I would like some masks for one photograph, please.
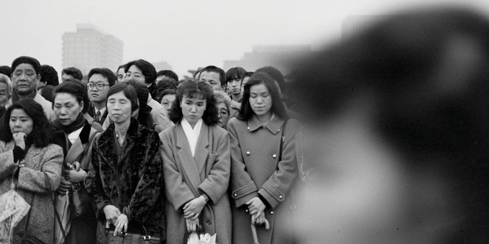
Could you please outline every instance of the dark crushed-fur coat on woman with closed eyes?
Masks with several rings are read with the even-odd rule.
[[[130,209],[128,233],[148,234],[164,240],[158,134],[131,118],[121,154],[117,155],[114,129],[111,123],[95,138],[92,169],[85,180],[87,192],[96,203],[97,219],[105,226],[103,208],[106,205],[116,206],[121,213],[127,206]]]

